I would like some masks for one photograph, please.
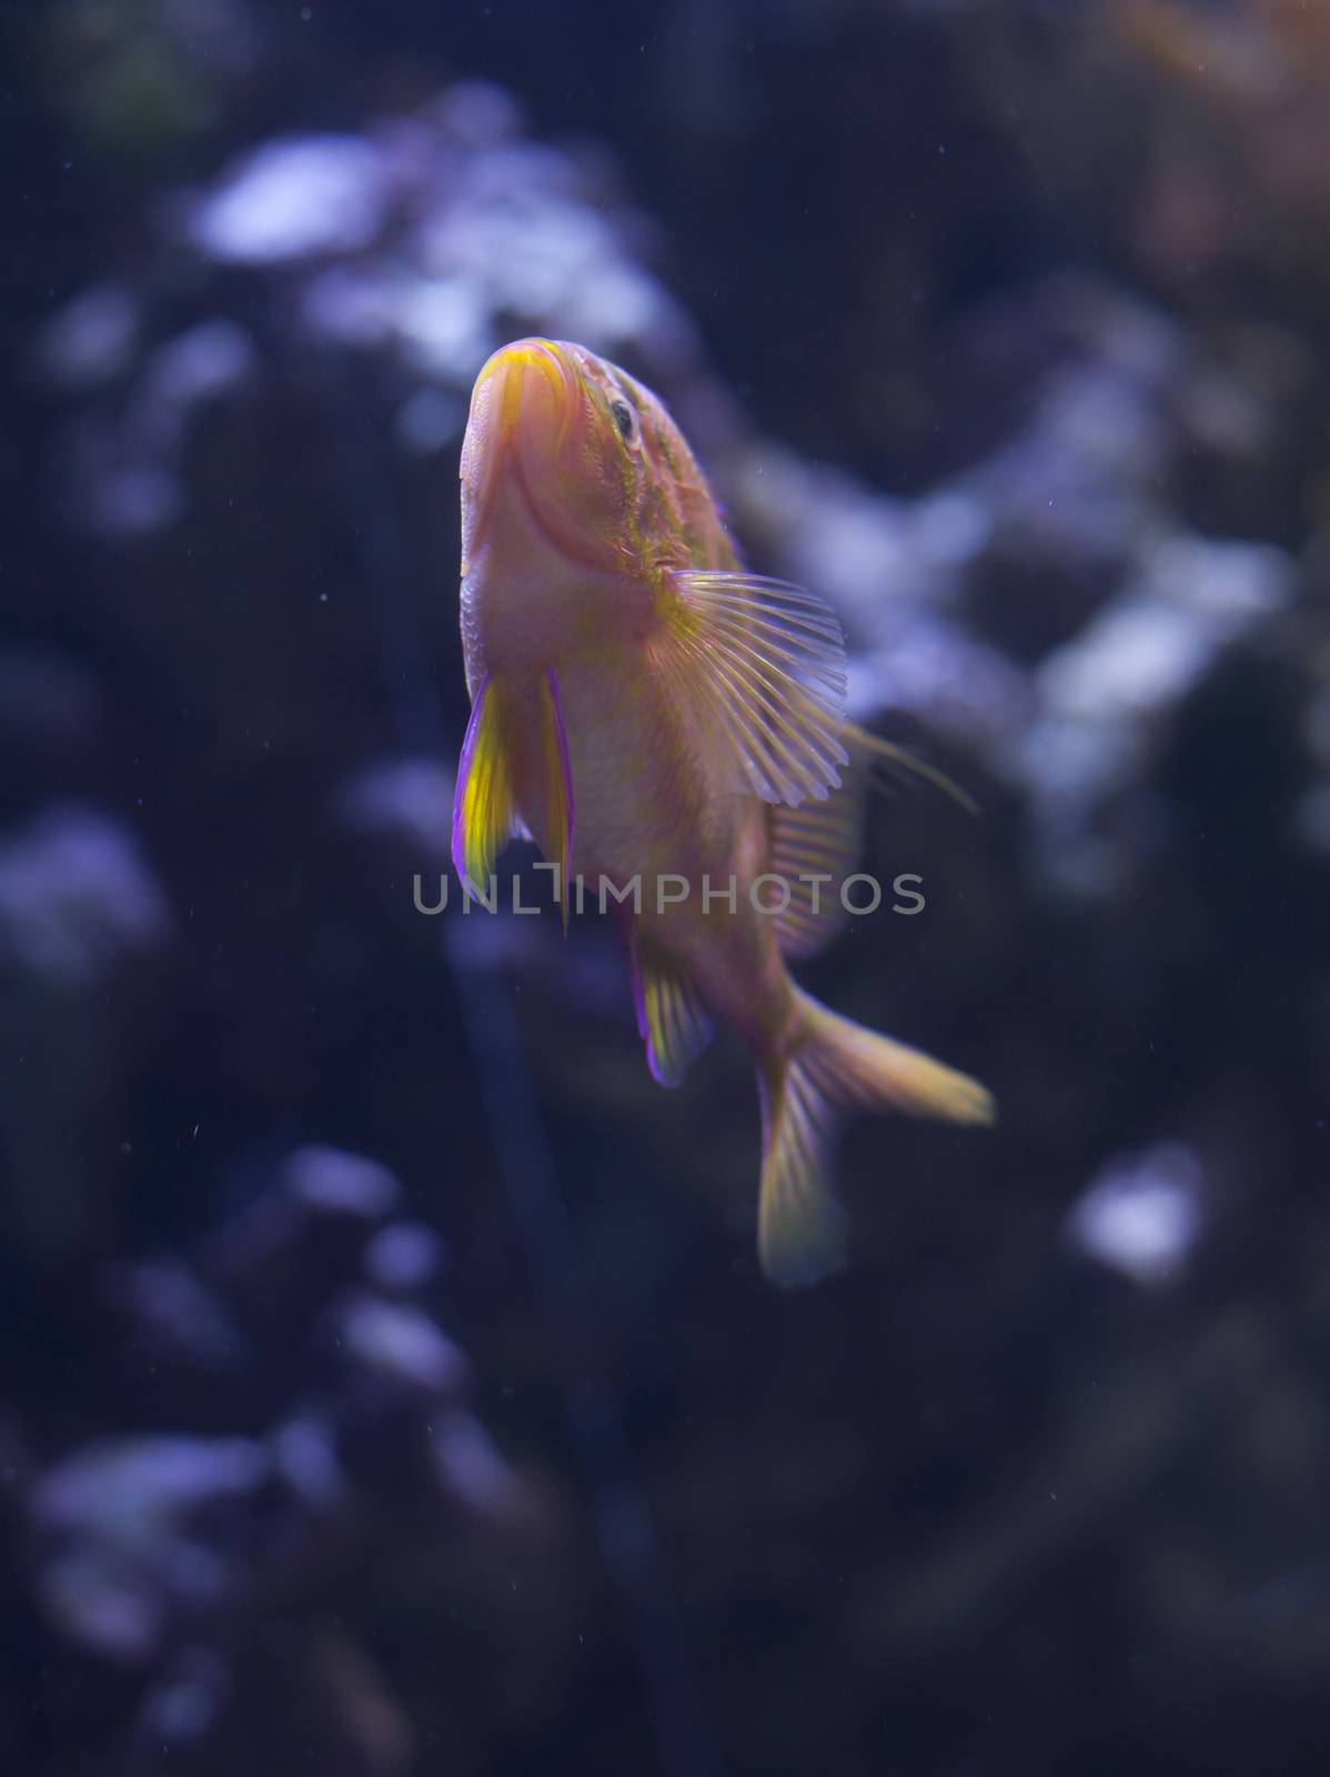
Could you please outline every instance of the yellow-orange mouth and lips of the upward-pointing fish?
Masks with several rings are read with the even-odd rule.
[[[570,538],[550,524],[549,483],[584,403],[577,368],[556,339],[515,339],[481,368],[462,444],[462,572],[487,540],[506,476],[549,542]]]

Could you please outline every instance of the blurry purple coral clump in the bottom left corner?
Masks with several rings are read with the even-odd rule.
[[[277,1772],[311,1720],[327,1772],[416,1768],[348,1619],[382,1644],[414,1608],[396,1569],[456,1605],[469,1542],[549,1532],[469,1409],[469,1367],[423,1304],[435,1249],[400,1205],[382,1167],[302,1150],[188,1256],[99,1279],[105,1349],[83,1361],[115,1430],[41,1468],[0,1448],[23,1551],[4,1610],[36,1661],[0,1679],[11,1770],[133,1770],[151,1747],[220,1773],[243,1747]]]

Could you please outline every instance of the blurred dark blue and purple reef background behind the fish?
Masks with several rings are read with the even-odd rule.
[[[1330,9],[11,4],[0,147],[0,1772],[1330,1768]],[[980,803],[803,1295],[739,1045],[414,904],[529,332]]]

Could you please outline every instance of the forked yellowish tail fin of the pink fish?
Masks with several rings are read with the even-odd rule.
[[[762,1059],[762,1269],[787,1288],[817,1283],[845,1258],[845,1212],[827,1178],[838,1111],[863,1105],[991,1123],[991,1095],[966,1073],[797,995],[799,1034]]]

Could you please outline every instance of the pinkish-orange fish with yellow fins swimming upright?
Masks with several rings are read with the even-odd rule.
[[[819,1004],[788,963],[831,936],[867,787],[909,761],[845,716],[815,590],[753,574],[664,402],[582,345],[499,348],[460,458],[471,720],[453,864],[534,839],[565,920],[593,883],[623,928],[652,1075],[717,1020],[756,1066],[758,1258],[796,1288],[845,1263],[833,1143],[854,1109],[991,1123],[977,1080]]]

